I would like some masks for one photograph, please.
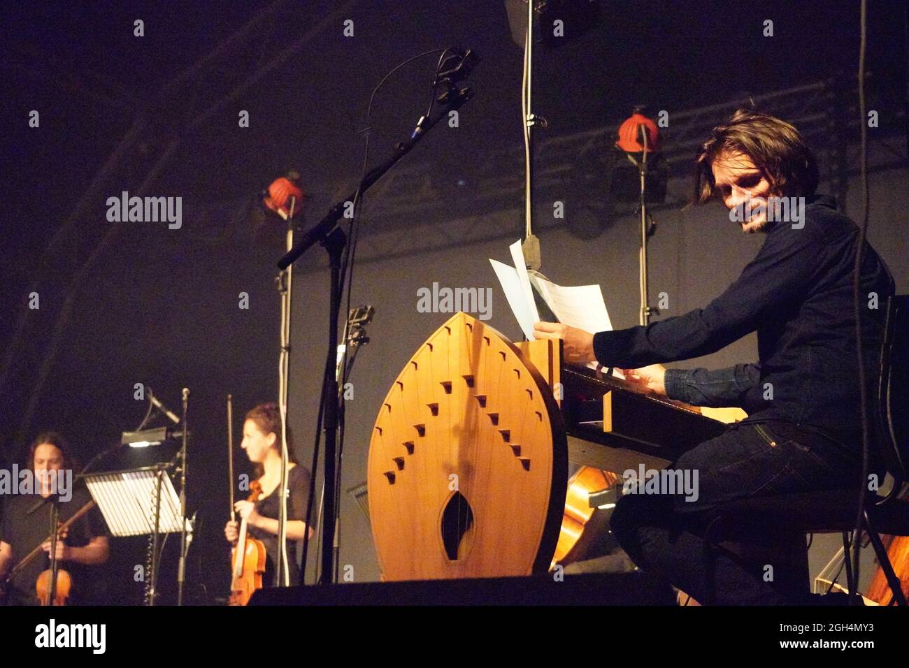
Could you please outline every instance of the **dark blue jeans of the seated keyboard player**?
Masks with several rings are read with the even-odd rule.
[[[704,511],[758,495],[857,490],[861,464],[834,444],[809,449],[764,424],[737,424],[683,454],[671,469],[697,471],[696,500],[686,501],[682,493],[625,494],[614,509],[612,531],[632,561],[699,603],[783,605],[804,603],[808,592],[793,591],[793,583],[807,573],[780,573],[783,563],[774,567],[773,557],[752,554],[749,561],[707,543]],[[766,545],[768,554],[779,554],[785,542],[784,551],[801,551],[804,558],[804,533],[782,536],[769,532],[748,542]]]

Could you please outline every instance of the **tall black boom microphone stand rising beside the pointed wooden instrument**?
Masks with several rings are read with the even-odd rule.
[[[385,162],[376,165],[366,173],[360,187],[345,200],[335,204],[325,217],[315,225],[311,230],[306,232],[300,241],[294,245],[280,260],[278,268],[286,269],[295,262],[302,254],[309,250],[316,243],[325,247],[328,254],[328,265],[331,274],[330,279],[330,301],[329,301],[329,324],[328,324],[328,354],[325,358],[325,373],[323,374],[322,392],[325,403],[325,416],[323,430],[325,433],[325,511],[322,515],[322,569],[319,576],[319,583],[330,584],[335,580],[334,577],[334,558],[333,546],[335,544],[335,457],[337,446],[338,430],[338,378],[336,369],[336,354],[338,344],[338,314],[341,310],[341,256],[347,244],[347,235],[344,230],[338,226],[338,222],[344,215],[346,203],[353,202],[359,193],[364,194],[376,181],[394,167],[401,158],[411,152],[423,137],[439,122],[447,116],[449,112],[459,109],[466,103],[473,93],[469,88],[459,89],[454,85],[449,88],[443,95],[438,98],[440,111],[428,118],[423,125],[423,132],[414,133],[404,142],[395,146],[394,153],[388,157]],[[315,471],[313,472],[315,474]],[[307,536],[308,537],[308,536]]]

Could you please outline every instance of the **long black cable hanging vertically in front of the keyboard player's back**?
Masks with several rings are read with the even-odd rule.
[[[855,267],[853,275],[853,310],[855,315],[855,361],[858,364],[858,384],[859,384],[859,404],[862,411],[862,477],[859,480],[859,499],[858,512],[855,516],[854,544],[852,550],[852,568],[851,573],[854,582],[850,582],[849,603],[857,604],[858,598],[858,580],[859,580],[859,554],[861,552],[862,542],[858,537],[862,534],[862,524],[864,523],[864,502],[865,489],[868,480],[868,459],[871,450],[869,438],[869,425],[867,414],[867,388],[864,380],[864,354],[862,351],[862,311],[859,305],[859,290],[861,289],[862,274],[862,255],[864,251],[864,240],[868,233],[868,119],[866,117],[865,99],[864,99],[864,56],[867,40],[867,3],[861,0],[861,21],[860,21],[860,38],[859,38],[859,55],[858,55],[858,105],[860,124],[862,128],[862,151],[861,151],[861,169],[862,169],[862,225],[859,228],[858,242],[855,248]],[[849,570],[847,570],[847,574]],[[848,575],[847,575],[848,576]]]

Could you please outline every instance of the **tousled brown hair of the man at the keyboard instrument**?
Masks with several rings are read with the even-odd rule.
[[[694,204],[705,204],[719,195],[714,183],[714,160],[735,152],[751,158],[774,194],[806,197],[817,189],[817,161],[801,133],[774,116],[739,109],[728,122],[714,127],[697,152]]]

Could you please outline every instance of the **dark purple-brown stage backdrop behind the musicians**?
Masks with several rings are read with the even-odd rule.
[[[652,114],[668,111],[667,150],[674,138],[687,161],[702,136],[674,129],[675,114],[701,110],[686,116],[700,132],[749,96],[761,109],[762,96],[794,89],[782,96],[792,109],[787,120],[813,129],[826,165],[821,190],[846,195],[847,213],[858,218],[857,133],[825,125],[835,116],[828,107],[843,100],[840,118],[857,123],[850,90],[858,3],[602,5],[603,22],[590,33],[534,54],[534,111],[549,120],[541,141],[588,132],[602,135],[605,150],[612,142],[606,129],[644,102]],[[881,117],[870,131],[870,239],[904,292],[904,6],[869,9],[869,108]],[[462,45],[480,55],[469,80],[476,96],[458,127],[440,124],[400,165],[413,178],[389,179],[365,199],[353,300],[373,304],[376,317],[347,407],[346,490],[365,480],[369,434],[388,386],[448,317],[418,313],[417,289],[433,282],[492,287],[491,323],[519,335],[486,258],[506,260],[507,245],[523,230],[522,49],[512,42],[503,2],[72,2],[6,5],[0,12],[0,459],[21,461],[38,431],[56,429],[85,460],[141,421],[145,403],[133,398],[135,383],[151,385],[175,411],[180,388],[190,387],[189,497],[200,524],[188,578],[191,599],[210,602],[228,585],[225,394],[234,394],[239,434],[240,416],[277,392],[273,281],[283,238],[258,211],[255,194],[296,168],[310,194],[306,224],[314,224],[355,189],[360,131],[379,79],[427,49]],[[136,19],[145,36],[134,35]],[[343,35],[347,19],[354,21],[351,37]],[[774,22],[773,37],[762,35],[765,19]],[[273,58],[283,59],[270,67]],[[434,57],[416,61],[377,95],[371,164],[409,135],[434,68]],[[818,82],[822,88],[810,88]],[[843,96],[825,97],[837,86]],[[809,97],[822,112],[800,107]],[[40,113],[38,128],[28,125],[32,110]],[[249,127],[238,126],[242,111]],[[552,144],[538,150],[537,169],[546,175],[537,201],[544,272],[561,284],[602,284],[614,326],[636,324],[634,215],[608,214],[603,165],[572,157]],[[566,164],[583,167],[586,180],[560,176]],[[660,228],[651,245],[652,299],[669,295],[664,315],[706,304],[760,244],[718,207],[683,211],[691,180],[687,166],[680,169],[670,182],[670,204],[655,212]],[[182,227],[107,222],[106,198],[122,191],[183,197]],[[557,200],[565,202],[565,221],[553,220]],[[306,463],[327,327],[320,253],[305,255],[295,268],[289,423]],[[27,307],[33,291],[37,310]],[[240,293],[249,295],[247,310],[238,307]],[[699,362],[716,367],[755,356],[748,337]],[[237,462],[248,472],[242,453]],[[353,566],[358,582],[376,580],[369,526],[348,494],[341,515],[342,567]],[[814,572],[837,540],[814,541]],[[165,590],[172,589],[175,543],[167,545]],[[145,543],[114,546],[109,601],[138,603],[142,586],[133,573],[144,562]]]

